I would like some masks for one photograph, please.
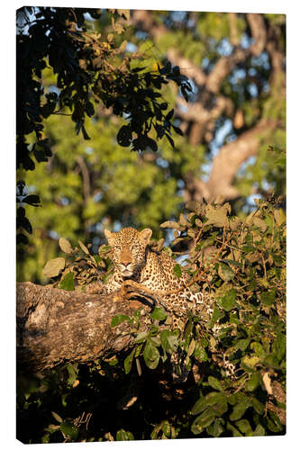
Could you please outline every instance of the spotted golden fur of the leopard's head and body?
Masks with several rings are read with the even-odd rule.
[[[189,276],[174,274],[176,261],[167,253],[155,252],[148,246],[152,231],[141,232],[124,228],[113,233],[105,229],[105,237],[112,247],[114,256],[114,274],[105,284],[107,293],[120,289],[124,280],[131,279],[153,292],[165,293],[183,288],[179,293],[161,295],[162,302],[177,317],[186,317],[186,310],[196,311],[204,303],[203,294],[192,293],[186,287]]]

